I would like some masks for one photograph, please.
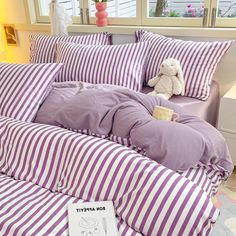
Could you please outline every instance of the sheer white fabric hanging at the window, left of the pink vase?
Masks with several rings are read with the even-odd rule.
[[[51,34],[56,36],[68,35],[67,26],[71,24],[71,17],[60,6],[58,0],[49,4],[49,17],[51,21]]]

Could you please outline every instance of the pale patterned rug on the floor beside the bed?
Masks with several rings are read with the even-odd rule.
[[[236,236],[236,175],[221,185],[213,198],[214,205],[220,209],[220,216],[211,236]]]

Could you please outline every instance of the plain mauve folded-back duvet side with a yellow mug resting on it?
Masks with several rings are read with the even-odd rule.
[[[154,119],[156,105],[179,113],[178,122]],[[233,169],[224,138],[213,126],[169,101],[117,86],[54,84],[35,122],[129,139],[172,170],[185,170],[199,161],[228,173]]]

